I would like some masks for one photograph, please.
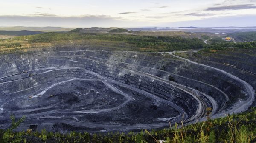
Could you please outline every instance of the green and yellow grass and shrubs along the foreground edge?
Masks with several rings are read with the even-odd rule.
[[[210,109],[208,109],[209,113]],[[225,118],[210,119],[188,126],[170,125],[161,130],[142,130],[139,133],[109,132],[90,134],[87,132],[46,132],[46,130],[12,132],[23,120],[15,122],[11,116],[12,126],[0,131],[1,143],[255,143],[256,109],[248,112],[227,115]]]

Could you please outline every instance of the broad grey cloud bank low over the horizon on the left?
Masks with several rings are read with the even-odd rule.
[[[55,26],[55,27],[125,27],[143,25],[144,22],[128,21],[106,15],[81,15],[76,17],[38,16],[27,14],[0,16],[1,25],[8,26]],[[144,23],[145,24],[145,23]],[[149,25],[146,25],[149,26]]]

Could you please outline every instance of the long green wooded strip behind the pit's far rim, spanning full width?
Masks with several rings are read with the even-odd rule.
[[[204,38],[208,36],[202,35]],[[202,37],[202,38],[203,38]],[[25,38],[25,41],[24,41]],[[222,40],[222,39],[221,39]],[[210,44],[204,44],[201,39],[192,38],[186,39],[181,37],[171,36],[141,36],[133,34],[96,34],[96,33],[79,33],[79,32],[67,32],[67,33],[44,33],[29,36],[18,36],[13,40],[7,40],[5,43],[0,43],[2,47],[1,51],[14,50],[19,47],[7,48],[4,44],[12,44],[13,42],[21,43],[21,47],[28,48],[26,42],[29,42],[29,47],[44,46],[46,45],[74,45],[74,44],[93,44],[93,45],[111,45],[112,50],[126,50],[126,51],[172,51],[172,50],[184,50],[184,49],[196,49],[196,48],[255,48],[255,42],[223,42],[223,40],[212,39]],[[25,44],[22,44],[24,43]],[[210,41],[208,41],[209,43]],[[38,44],[36,44],[38,43]],[[31,45],[32,44],[32,45]],[[6,49],[5,49],[6,48]]]

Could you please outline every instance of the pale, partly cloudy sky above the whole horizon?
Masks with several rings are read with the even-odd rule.
[[[3,0],[0,26],[256,26],[256,0]]]

